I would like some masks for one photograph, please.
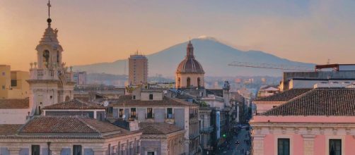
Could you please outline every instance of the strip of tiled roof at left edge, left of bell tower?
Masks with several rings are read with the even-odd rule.
[[[0,99],[0,109],[28,109],[28,99]]]

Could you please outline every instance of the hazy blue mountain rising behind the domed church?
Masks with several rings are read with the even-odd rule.
[[[248,63],[272,63],[284,66],[303,66],[312,69],[315,64],[290,61],[279,58],[263,51],[240,51],[232,46],[223,44],[211,37],[199,37],[191,40],[194,46],[194,55],[202,64],[206,75],[210,76],[235,76],[235,75],[270,75],[281,76],[282,70],[265,68],[245,68],[228,66],[233,61]],[[161,74],[168,77],[175,75],[178,64],[186,55],[187,42],[170,46],[154,54],[147,55],[149,64],[149,76]],[[127,59],[112,63],[94,63],[85,66],[74,66],[74,70],[85,70],[88,73],[110,73],[115,75],[128,73]],[[126,63],[126,64],[125,64]]]

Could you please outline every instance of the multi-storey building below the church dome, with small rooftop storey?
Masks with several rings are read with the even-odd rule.
[[[132,95],[122,95],[110,101],[114,118],[140,123],[169,123],[185,130],[185,154],[198,154],[199,106],[166,97],[162,89],[134,90]]]

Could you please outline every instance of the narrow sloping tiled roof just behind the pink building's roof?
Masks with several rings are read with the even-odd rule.
[[[302,89],[288,89],[284,92],[280,92],[278,94],[273,94],[269,97],[261,97],[255,99],[254,101],[289,101],[294,99],[295,97],[300,96],[306,92],[309,92],[311,89],[302,88]]]

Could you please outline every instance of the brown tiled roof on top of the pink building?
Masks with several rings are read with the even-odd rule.
[[[263,116],[355,116],[355,89],[313,89]]]

